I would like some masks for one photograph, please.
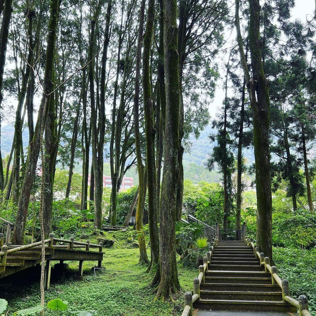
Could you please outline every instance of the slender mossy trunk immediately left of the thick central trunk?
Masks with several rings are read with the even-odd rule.
[[[156,195],[156,163],[155,163],[155,121],[154,106],[151,97],[152,87],[150,82],[150,48],[154,32],[155,0],[149,0],[147,23],[144,35],[143,48],[143,99],[145,113],[146,136],[146,166],[148,183],[148,222],[151,250],[151,269],[158,272],[159,278],[159,232],[157,222],[157,195]],[[140,147],[140,146],[139,146]]]

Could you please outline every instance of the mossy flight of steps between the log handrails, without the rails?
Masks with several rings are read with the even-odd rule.
[[[193,307],[209,310],[292,312],[282,300],[282,289],[272,284],[252,248],[243,241],[219,241],[214,248],[200,299]]]

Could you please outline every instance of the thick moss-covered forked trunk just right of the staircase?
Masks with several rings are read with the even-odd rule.
[[[250,77],[239,23],[239,0],[235,1],[235,25],[240,51],[240,62],[246,77],[253,116],[253,145],[257,191],[257,246],[272,261],[272,196],[269,148],[270,96],[262,65],[260,41],[259,0],[249,0],[249,49],[252,78]]]

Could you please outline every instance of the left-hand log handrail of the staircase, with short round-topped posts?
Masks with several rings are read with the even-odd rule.
[[[192,316],[193,315],[193,303],[200,298],[200,285],[205,281],[205,271],[208,270],[208,266],[213,256],[213,249],[218,243],[218,237],[212,238],[209,251],[206,257],[203,258],[203,265],[198,267],[198,277],[193,280],[193,295],[191,292],[185,292],[184,294],[184,309],[181,316]],[[304,315],[305,316],[305,315]]]

